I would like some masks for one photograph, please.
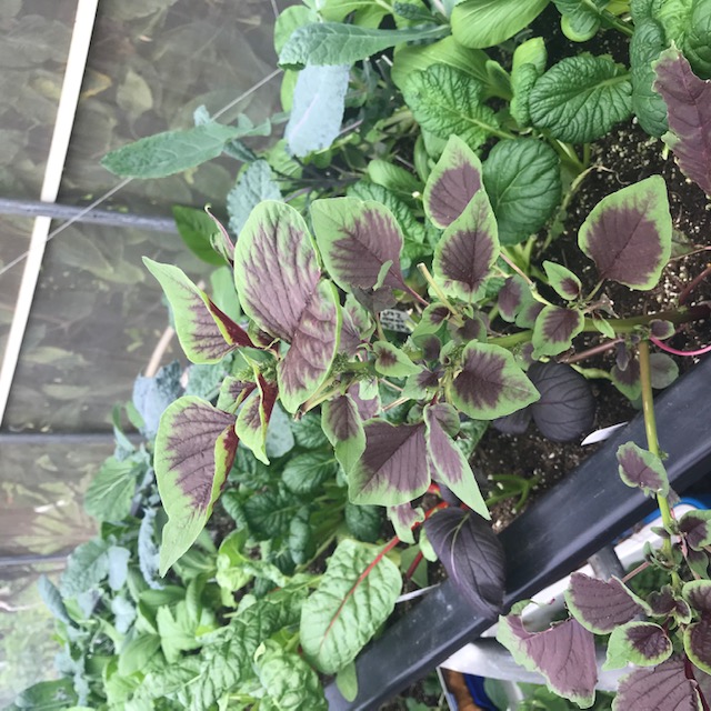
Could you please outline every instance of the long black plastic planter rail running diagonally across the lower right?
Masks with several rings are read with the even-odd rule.
[[[711,358],[658,397],[654,405],[669,479],[683,491],[711,471]],[[654,509],[653,500],[625,487],[618,475],[615,452],[630,440],[647,445],[641,415],[501,533],[507,609],[568,575]],[[329,709],[378,709],[493,622],[473,612],[444,582],[360,654],[354,701],[347,701],[333,683],[327,688]]]

